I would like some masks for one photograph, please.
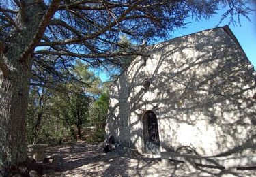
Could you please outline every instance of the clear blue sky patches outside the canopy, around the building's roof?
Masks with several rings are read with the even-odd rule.
[[[256,5],[251,5],[252,9],[256,10]],[[177,29],[174,33],[171,33],[171,38],[180,37],[183,35],[188,35],[190,33],[196,33],[198,31],[203,31],[205,29],[212,29],[218,25],[219,20],[221,19],[221,15],[224,13],[224,11],[218,12],[214,17],[208,19],[208,20],[202,20],[197,21],[195,20],[188,20],[188,24],[186,25],[186,28],[184,29]],[[233,31],[234,35],[238,39],[238,42],[244,49],[244,52],[246,53],[246,56],[251,61],[253,66],[256,68],[256,12],[253,12],[249,18],[251,19],[251,22],[248,21],[246,18],[241,18],[241,26],[237,25],[229,25],[231,31]],[[228,25],[229,19],[225,19],[221,25]],[[159,41],[160,42],[160,41]],[[98,72],[100,78],[105,81],[108,80],[108,76],[104,71]]]

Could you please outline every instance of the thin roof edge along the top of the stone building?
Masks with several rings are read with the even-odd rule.
[[[190,34],[188,34],[188,35],[182,35],[182,36],[179,36],[179,37],[174,37],[173,39],[169,39],[169,40],[167,40],[167,41],[158,42],[158,43],[156,43],[156,44],[148,45],[148,46],[145,47],[145,49],[150,48],[150,47],[153,47],[153,46],[156,46],[156,45],[158,45],[158,44],[169,43],[169,42],[171,42],[171,41],[173,41],[173,40],[175,40],[175,39],[178,39],[178,38],[180,38],[180,37],[186,37],[186,36],[189,36],[189,35],[194,35],[194,34],[196,34],[196,33],[201,33],[201,32],[204,32],[204,31],[210,31],[210,30],[213,30],[213,29],[223,29],[223,30],[227,33],[227,35],[229,35],[229,37],[231,37],[231,39],[232,39],[232,40],[239,46],[239,48],[242,50],[242,53],[244,54],[246,60],[251,63],[251,61],[249,61],[248,57],[246,56],[246,54],[245,54],[245,52],[244,52],[242,46],[241,46],[240,43],[238,42],[238,39],[236,39],[236,36],[233,34],[233,32],[231,31],[231,29],[229,28],[229,25],[224,25],[224,26],[222,26],[222,27],[214,27],[214,28],[210,28],[210,29],[204,29],[204,30],[202,30],[202,31],[197,31],[197,32],[195,32],[195,33],[190,33]],[[138,57],[138,56],[137,56],[137,57]],[[137,59],[137,57],[135,57],[134,59],[132,59],[132,61],[134,61],[135,59]],[[132,63],[132,61],[131,61],[130,63]],[[113,83],[109,86],[109,88],[111,88],[111,87],[113,86],[113,84],[114,84],[115,82],[117,82],[117,80],[120,78],[120,76],[122,76],[122,74],[124,74],[124,72],[126,71],[126,69],[128,69],[129,66],[130,66],[130,64],[119,74],[119,76],[118,76],[115,80],[113,80]]]

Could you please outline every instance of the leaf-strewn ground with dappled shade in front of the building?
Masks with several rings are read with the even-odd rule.
[[[100,144],[85,142],[49,147],[47,154],[59,156],[56,164],[45,165],[48,176],[256,176],[256,170],[195,169],[186,163],[163,165],[160,158],[131,150],[105,154]]]

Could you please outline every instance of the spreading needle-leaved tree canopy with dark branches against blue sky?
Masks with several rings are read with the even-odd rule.
[[[240,23],[240,16],[248,18],[251,9],[246,1],[77,1],[77,0],[1,0],[1,52],[6,52],[14,35],[29,33],[28,23],[40,18],[36,31],[20,52],[20,60],[29,54],[35,65],[49,70],[48,64],[67,67],[79,59],[93,67],[119,65],[114,57],[143,55],[139,50],[120,43],[125,35],[132,44],[169,37],[175,29],[184,27],[187,18],[209,18],[218,10],[227,9],[222,19]],[[41,9],[36,12],[35,9]],[[37,48],[40,47],[40,48]],[[124,50],[126,49],[126,50]],[[128,51],[128,52],[127,52]],[[44,60],[45,56],[51,60]],[[8,66],[1,59],[0,68],[8,74]],[[53,69],[53,68],[51,68]]]

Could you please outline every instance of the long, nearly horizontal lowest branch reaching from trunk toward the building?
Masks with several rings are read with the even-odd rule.
[[[145,56],[143,52],[115,52],[115,53],[99,53],[99,54],[78,54],[74,52],[55,52],[48,50],[39,50],[35,54],[51,54],[51,55],[66,55],[70,57],[81,57],[81,58],[106,58],[106,57],[118,57],[118,56],[131,56],[131,55],[141,55]]]

